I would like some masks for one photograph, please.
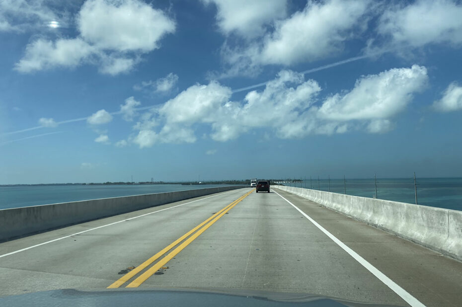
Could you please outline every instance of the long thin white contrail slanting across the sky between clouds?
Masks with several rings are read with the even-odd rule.
[[[389,50],[388,50],[388,51],[389,51]],[[357,57],[349,58],[349,59],[346,59],[346,60],[342,60],[342,61],[334,62],[334,63],[331,63],[331,64],[327,64],[327,65],[319,66],[319,67],[316,67],[316,68],[312,68],[312,69],[309,69],[309,70],[306,70],[306,71],[301,72],[301,74],[306,75],[306,74],[310,74],[310,73],[322,71],[322,70],[325,70],[325,69],[328,69],[328,68],[336,67],[336,66],[339,66],[339,65],[347,64],[347,63],[350,63],[350,62],[355,62],[355,61],[359,61],[359,60],[366,59],[366,58],[372,58],[372,57],[381,55],[381,54],[383,54],[383,53],[385,53],[385,52],[388,52],[388,51],[381,51],[381,52],[377,52],[377,53],[371,53],[371,54],[368,54],[368,55],[362,55],[362,56],[357,56]],[[257,88],[257,87],[260,87],[260,86],[264,86],[264,85],[266,85],[268,82],[269,82],[269,81],[261,82],[261,83],[257,83],[257,84],[253,84],[253,85],[249,85],[249,86],[245,86],[245,87],[241,87],[241,88],[236,88],[236,89],[233,89],[233,90],[232,90],[232,93],[237,93],[237,92],[245,91],[245,90],[248,90],[248,89],[252,89],[252,88]],[[137,110],[137,111],[142,111],[142,110],[152,109],[152,108],[154,108],[154,107],[156,107],[156,106],[158,106],[158,105],[151,105],[151,106],[136,108],[136,110]],[[122,114],[122,111],[112,112],[112,113],[109,113],[109,114],[111,114],[111,115]],[[88,119],[88,117],[81,117],[81,118],[76,118],[76,119],[68,119],[68,120],[65,120],[65,121],[57,122],[57,124],[58,124],[58,125],[61,125],[61,124],[68,124],[68,123],[74,123],[74,122],[85,121],[85,120],[87,120],[87,119]],[[11,134],[16,134],[16,133],[21,133],[21,132],[26,132],[26,131],[41,129],[41,128],[47,128],[47,127],[45,127],[45,126],[37,126],[37,127],[32,127],[32,128],[27,128],[27,129],[12,131],[12,132],[6,132],[6,133],[3,133],[3,134],[1,134],[1,135],[2,135],[2,136],[6,136],[6,135],[11,135]],[[47,135],[47,134],[43,134],[43,135]],[[42,135],[39,135],[39,136],[42,136]],[[20,139],[20,140],[23,140],[23,139]],[[9,142],[6,142],[6,143],[10,143],[10,142],[14,142],[14,141],[9,141]],[[2,143],[2,144],[6,144],[6,143]]]

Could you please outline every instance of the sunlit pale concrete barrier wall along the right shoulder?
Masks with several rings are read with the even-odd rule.
[[[462,211],[273,186],[462,261]]]

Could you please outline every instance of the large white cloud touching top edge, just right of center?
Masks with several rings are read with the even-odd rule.
[[[276,23],[273,34],[264,39],[263,64],[291,65],[312,62],[338,53],[351,38],[354,27],[364,21],[366,0],[309,1],[305,9]]]

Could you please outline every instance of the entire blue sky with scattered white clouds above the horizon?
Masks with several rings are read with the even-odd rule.
[[[462,177],[455,0],[4,0],[0,184]]]

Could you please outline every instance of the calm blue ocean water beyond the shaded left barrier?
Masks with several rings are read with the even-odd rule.
[[[0,209],[79,200],[214,188],[225,185],[54,185],[0,187]]]

